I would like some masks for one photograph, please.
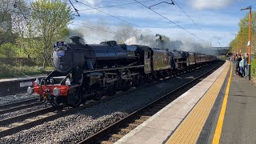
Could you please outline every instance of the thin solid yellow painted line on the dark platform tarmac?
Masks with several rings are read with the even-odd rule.
[[[221,138],[221,135],[222,135],[222,126],[223,126],[224,116],[225,116],[225,112],[226,112],[226,102],[227,102],[227,98],[229,97],[230,82],[231,82],[231,78],[232,78],[232,67],[233,66],[231,63],[230,78],[229,78],[229,82],[227,83],[227,86],[226,86],[226,92],[225,92],[225,96],[224,96],[223,103],[222,103],[222,110],[218,117],[218,123],[217,123],[216,130],[214,133],[213,144],[218,144],[219,140]]]

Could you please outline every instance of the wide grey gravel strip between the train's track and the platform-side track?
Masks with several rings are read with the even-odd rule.
[[[204,66],[199,70],[181,74],[179,77],[167,79],[153,86],[129,90],[108,102],[1,138],[0,143],[77,143],[214,66]]]

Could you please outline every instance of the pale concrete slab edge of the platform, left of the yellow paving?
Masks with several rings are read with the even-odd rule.
[[[197,105],[198,101],[201,101],[200,99],[206,94],[223,71],[229,69],[229,66],[230,62],[223,64],[213,74],[210,74],[202,82],[199,82],[198,85],[192,87],[115,143],[167,142],[170,136],[174,134],[174,130],[178,129],[187,115],[190,114],[190,111]]]

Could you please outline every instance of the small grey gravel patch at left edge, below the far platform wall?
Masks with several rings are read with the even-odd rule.
[[[27,95],[26,93],[6,95],[4,97],[0,97],[0,106],[6,105],[13,102],[20,102],[24,100],[37,98],[35,94]]]

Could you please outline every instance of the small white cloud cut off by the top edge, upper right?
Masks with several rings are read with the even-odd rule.
[[[238,0],[189,0],[190,4],[198,10],[206,9],[220,9],[226,6],[230,6],[232,3]]]

